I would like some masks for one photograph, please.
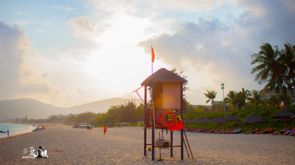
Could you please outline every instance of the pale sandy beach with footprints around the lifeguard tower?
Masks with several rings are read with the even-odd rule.
[[[159,130],[156,130],[158,138]],[[87,129],[70,126],[52,126],[24,135],[0,139],[0,164],[30,165],[295,165],[295,137],[283,135],[220,135],[186,133],[194,160],[187,157],[180,160],[180,147],[175,147],[174,157],[170,150],[156,149],[155,161],[151,152],[144,156],[143,129],[137,127]],[[139,137],[140,136],[140,137]],[[148,143],[151,141],[148,130]],[[164,139],[170,138],[164,131]],[[174,131],[174,145],[180,144],[180,132]],[[24,149],[42,145],[49,159],[23,158],[29,156]],[[35,150],[36,152],[36,150]]]

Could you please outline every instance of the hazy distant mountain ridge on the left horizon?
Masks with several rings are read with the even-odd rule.
[[[56,107],[31,98],[20,98],[14,100],[0,101],[0,120],[4,118],[48,118],[52,115],[62,114],[80,114],[91,111],[94,113],[105,113],[110,106],[124,103],[127,99],[110,98],[100,101],[94,101],[87,104],[77,105],[70,108]],[[137,105],[142,101],[135,99]]]

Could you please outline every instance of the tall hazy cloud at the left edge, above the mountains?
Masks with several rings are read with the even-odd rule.
[[[18,25],[0,22],[0,99],[57,93],[30,67],[32,42]],[[44,96],[45,95],[45,96]]]

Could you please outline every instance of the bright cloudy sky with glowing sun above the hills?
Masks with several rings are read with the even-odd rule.
[[[207,90],[223,99],[222,83],[225,95],[262,90],[251,55],[287,42],[294,0],[1,0],[0,100],[139,98],[153,65],[183,71],[188,102],[206,105]]]

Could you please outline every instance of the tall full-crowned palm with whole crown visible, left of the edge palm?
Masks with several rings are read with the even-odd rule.
[[[286,67],[282,65],[281,59],[278,58],[279,51],[277,50],[277,46],[274,50],[269,43],[266,43],[260,48],[261,51],[259,51],[259,54],[255,53],[252,55],[254,60],[252,60],[251,65],[258,64],[258,66],[254,67],[251,73],[258,72],[255,77],[255,81],[258,81],[258,84],[262,84],[267,81],[278,84],[282,90],[284,105],[288,108],[285,90],[282,85],[282,76],[286,75],[287,70]]]

